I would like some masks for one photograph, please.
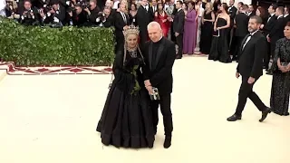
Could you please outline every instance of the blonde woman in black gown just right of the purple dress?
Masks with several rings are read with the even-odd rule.
[[[200,53],[208,54],[211,46],[213,23],[215,22],[215,13],[212,11],[211,3],[207,3],[205,12],[202,16]]]

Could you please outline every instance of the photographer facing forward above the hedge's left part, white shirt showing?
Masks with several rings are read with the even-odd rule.
[[[38,25],[39,14],[35,8],[32,8],[30,0],[24,1],[24,12],[21,13],[20,23],[24,25]]]

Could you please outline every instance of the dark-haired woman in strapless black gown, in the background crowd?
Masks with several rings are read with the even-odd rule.
[[[221,13],[218,14],[214,24],[214,37],[212,39],[208,60],[219,62],[232,62],[228,53],[227,35],[229,34],[230,17],[227,14],[227,4],[220,6]]]

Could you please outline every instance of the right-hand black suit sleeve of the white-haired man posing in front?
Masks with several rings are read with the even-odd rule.
[[[158,85],[170,75],[175,58],[175,45],[174,43],[170,43],[164,67],[160,69],[160,72],[155,73],[154,76],[150,78],[150,83],[153,87]]]

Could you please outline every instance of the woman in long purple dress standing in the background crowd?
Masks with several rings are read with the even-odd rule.
[[[183,34],[183,53],[194,54],[197,44],[197,12],[194,2],[188,4],[188,14],[185,16]]]

